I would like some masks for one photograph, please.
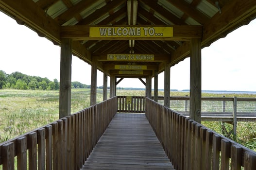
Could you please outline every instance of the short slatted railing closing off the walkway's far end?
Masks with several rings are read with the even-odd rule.
[[[145,113],[145,97],[118,96],[119,113]]]

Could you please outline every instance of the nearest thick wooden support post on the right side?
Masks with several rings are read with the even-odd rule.
[[[201,123],[201,39],[190,40],[189,117]]]

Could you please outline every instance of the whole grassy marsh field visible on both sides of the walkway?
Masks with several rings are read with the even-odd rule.
[[[154,93],[152,93],[154,94]],[[158,92],[163,96],[163,91]],[[144,90],[117,90],[118,96],[145,96]],[[188,92],[172,92],[171,96],[185,96]],[[256,97],[248,94],[208,94],[205,97]],[[97,91],[97,102],[102,101],[102,89]],[[71,113],[90,105],[90,89],[72,89]],[[0,142],[22,135],[51,123],[59,117],[59,92],[43,90],[0,90]],[[206,127],[221,133],[221,122],[202,122]],[[228,130],[231,125],[225,125]],[[237,141],[256,150],[256,122],[239,122]]]

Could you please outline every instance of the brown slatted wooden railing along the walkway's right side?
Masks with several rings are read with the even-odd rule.
[[[149,98],[146,116],[175,170],[256,168],[256,152]]]

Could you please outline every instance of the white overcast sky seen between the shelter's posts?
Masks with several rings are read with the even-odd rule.
[[[31,76],[60,77],[60,47],[0,12],[0,70]],[[256,20],[202,50],[202,90],[256,91]],[[91,66],[72,57],[72,82],[90,85]],[[97,86],[103,85],[98,71]],[[108,78],[109,85],[109,78]],[[118,87],[145,86],[138,79],[124,79]],[[154,79],[152,79],[154,87]],[[158,88],[164,88],[163,73]],[[189,58],[171,67],[171,89],[189,89]]]

